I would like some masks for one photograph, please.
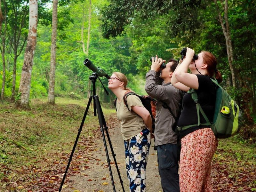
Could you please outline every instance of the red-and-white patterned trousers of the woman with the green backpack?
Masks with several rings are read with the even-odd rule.
[[[211,128],[196,130],[181,139],[180,192],[212,192],[211,162],[217,146]]]

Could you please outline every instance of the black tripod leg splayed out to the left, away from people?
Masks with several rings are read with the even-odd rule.
[[[77,133],[77,136],[76,136],[76,141],[75,141],[74,147],[73,147],[73,149],[72,149],[72,152],[71,152],[71,154],[70,154],[70,157],[69,157],[69,159],[68,159],[68,165],[67,165],[65,174],[64,174],[64,176],[63,176],[63,179],[62,179],[62,181],[61,181],[60,188],[59,188],[59,192],[61,191],[62,185],[63,185],[64,180],[65,180],[65,178],[66,178],[66,175],[67,175],[67,172],[68,172],[68,167],[69,167],[69,164],[70,164],[70,162],[71,162],[71,160],[72,160],[74,151],[75,151],[75,149],[76,149],[76,144],[77,144],[78,138],[79,138],[79,136],[80,136],[80,133],[81,133],[81,131],[82,131],[82,128],[83,128],[83,125],[84,125],[84,121],[85,121],[86,115],[87,115],[87,113],[88,113],[88,110],[89,110],[89,107],[90,107],[91,102],[92,102],[92,96],[90,96],[90,98],[89,98],[87,107],[86,107],[85,112],[84,112],[84,117],[83,117],[83,119],[82,119],[80,128],[78,129],[78,133]]]

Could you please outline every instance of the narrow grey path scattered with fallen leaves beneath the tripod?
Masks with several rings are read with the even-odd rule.
[[[113,122],[111,123],[113,124]],[[108,122],[107,122],[108,125]],[[109,126],[109,125],[108,125]],[[129,181],[127,179],[125,171],[125,160],[124,160],[124,141],[120,133],[120,124],[115,122],[108,129],[110,140],[113,146],[114,153],[116,154],[116,162],[118,163],[118,168],[121,174],[121,178],[124,181],[124,190],[129,191]],[[106,134],[105,134],[106,135]],[[107,137],[106,137],[107,140]],[[71,181],[72,184],[64,187],[61,191],[63,192],[73,192],[79,190],[80,192],[111,192],[114,191],[112,187],[112,182],[110,178],[108,163],[106,161],[106,153],[104,149],[102,136],[95,139],[96,145],[93,150],[88,155],[90,156],[90,161],[86,164],[81,164],[82,170],[76,175],[67,176],[67,179]],[[157,155],[154,151],[153,146],[154,141],[151,143],[149,150],[149,158],[147,164],[147,192],[162,192],[160,177],[158,175],[157,168]],[[111,154],[111,150],[107,141],[107,148],[109,153],[109,158],[111,160],[111,170],[113,173],[113,179],[115,182],[116,191],[123,191],[122,186],[116,171],[116,166],[114,164],[114,158]],[[73,160],[72,160],[73,161]],[[70,182],[69,182],[70,183]]]

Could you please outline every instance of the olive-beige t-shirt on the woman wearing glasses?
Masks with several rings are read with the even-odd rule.
[[[139,97],[136,95],[128,95],[126,101],[130,111],[125,106],[123,99],[120,103],[116,101],[116,116],[121,122],[121,132],[124,140],[131,139],[147,127],[143,119],[131,110],[132,106],[145,108]]]

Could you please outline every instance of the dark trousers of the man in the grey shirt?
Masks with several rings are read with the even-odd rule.
[[[179,164],[177,158],[177,145],[167,143],[156,146],[158,171],[164,192],[179,192]]]

